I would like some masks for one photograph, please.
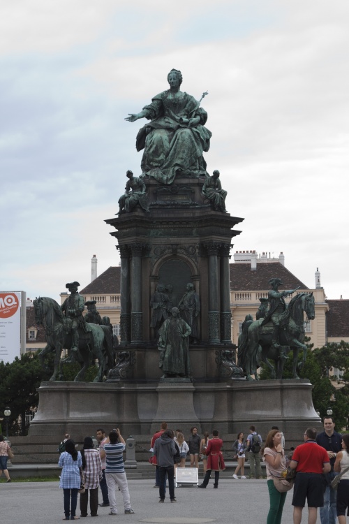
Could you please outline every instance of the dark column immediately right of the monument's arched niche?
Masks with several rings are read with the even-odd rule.
[[[218,288],[218,251],[217,242],[205,245],[209,256],[209,343],[219,344],[220,337],[220,303]]]

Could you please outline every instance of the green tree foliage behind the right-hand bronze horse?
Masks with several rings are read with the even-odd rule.
[[[306,339],[309,342],[309,339]],[[313,384],[313,405],[323,418],[327,409],[332,409],[336,429],[349,429],[349,344],[330,343],[312,350],[313,344],[307,344],[308,354],[304,367],[298,370],[301,379],[309,379]],[[284,379],[292,378],[292,352],[285,362]],[[302,354],[299,354],[299,362]],[[343,377],[337,379],[332,374],[333,368],[343,372]],[[262,365],[260,379],[270,379],[269,369]]]

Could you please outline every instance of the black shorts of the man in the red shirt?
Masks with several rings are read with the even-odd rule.
[[[304,508],[306,500],[308,501],[308,507],[323,507],[324,484],[322,474],[297,472],[295,487],[293,488],[292,506]]]

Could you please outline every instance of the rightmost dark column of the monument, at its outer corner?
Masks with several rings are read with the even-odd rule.
[[[232,314],[230,312],[230,244],[221,247],[221,342],[232,343]]]

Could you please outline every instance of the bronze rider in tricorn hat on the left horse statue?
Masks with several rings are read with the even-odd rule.
[[[71,333],[72,346],[70,349],[70,361],[78,361],[79,355],[79,331],[78,328],[87,333],[87,324],[84,321],[82,312],[84,311],[84,297],[77,293],[77,287],[80,286],[79,282],[68,282],[66,288],[70,291],[70,296],[64,300],[61,305],[61,310],[66,317],[66,331]]]

